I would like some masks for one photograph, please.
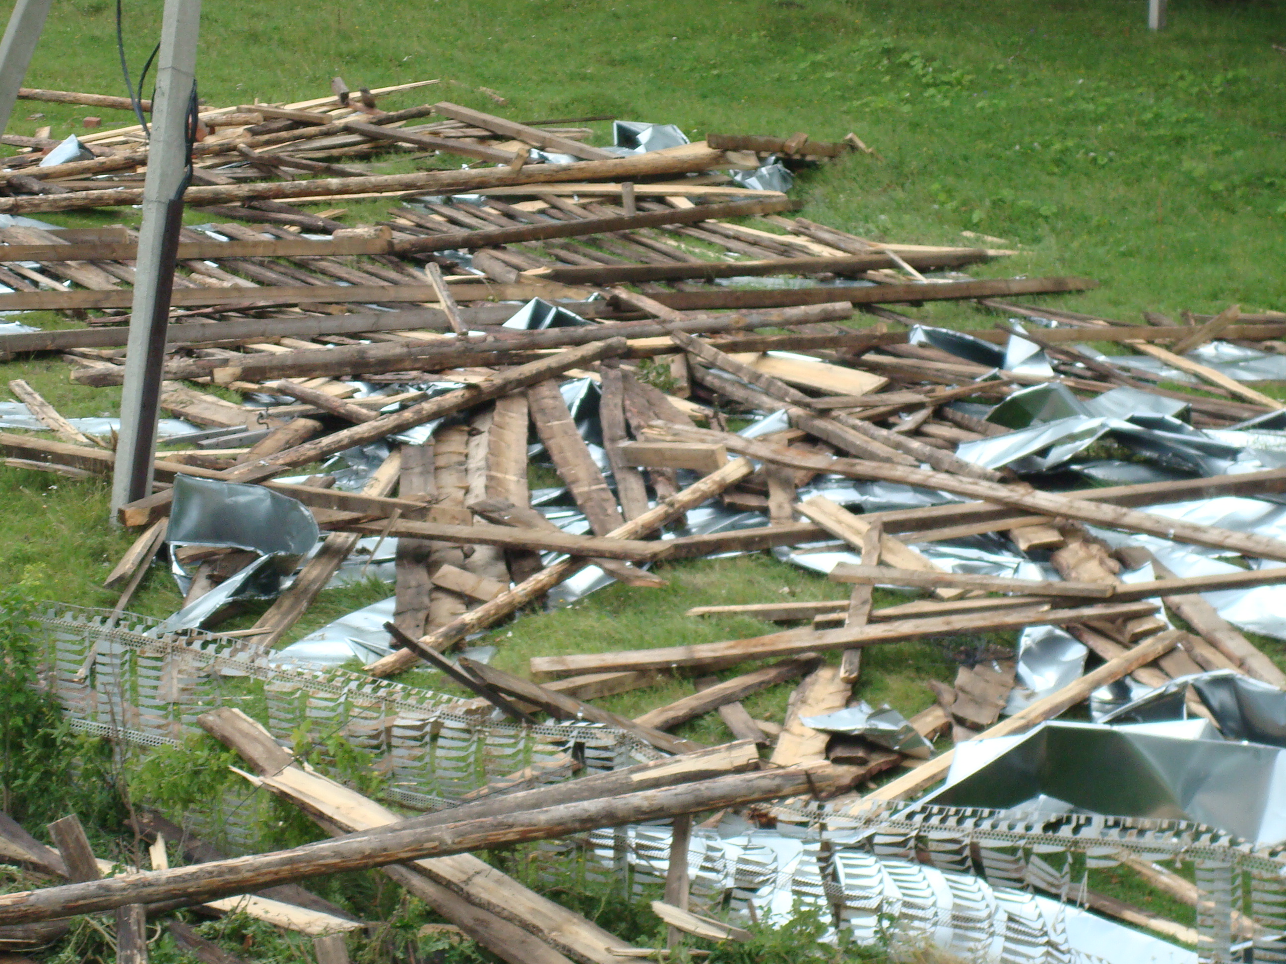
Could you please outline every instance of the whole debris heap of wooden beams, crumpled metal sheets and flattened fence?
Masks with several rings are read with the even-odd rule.
[[[1249,384],[1286,377],[1286,315],[1134,325],[1029,307],[997,298],[1092,283],[967,279],[954,270],[1007,252],[782,217],[795,203],[764,185],[864,149],[855,138],[688,144],[671,126],[617,122],[617,145],[593,148],[588,129],[449,103],[381,113],[379,93],[203,114],[216,132],[189,204],[261,226],[186,229],[180,243],[162,406],[195,447],[161,452],[157,491],[121,509],[141,533],[109,577],[116,613],[45,616],[46,683],[75,721],[153,745],[199,725],[336,839],[224,857],[143,811],[135,829],[162,841],[152,871],[102,878],[75,817],[51,828],[57,851],[0,823],[8,859],[69,882],[0,896],[6,946],[114,909],[138,960],[147,914],[206,902],[319,934],[338,955],[333,934],[361,922],[294,882],[378,866],[513,961],[664,959],[680,932],[738,940],[724,916],[783,920],[797,902],[859,942],[892,924],[1004,960],[1196,956],[1080,905],[1202,959],[1244,946],[1286,958],[1271,778],[1286,675],[1237,629],[1286,639],[1265,595],[1286,582],[1286,415]],[[445,120],[404,126],[426,116]],[[23,174],[0,210],[135,203],[136,189],[104,188],[145,163],[132,136],[86,136],[91,159],[10,159]],[[316,159],[390,145],[495,166],[369,175]],[[397,204],[381,225],[342,229],[336,212],[279,203],[337,197]],[[243,206],[211,207],[225,203]],[[15,222],[0,240],[0,310],[103,312],[77,329],[10,326],[0,351],[60,352],[76,382],[120,384],[132,233]],[[880,307],[937,299],[1006,320],[964,333]],[[60,441],[0,434],[6,464],[112,470],[111,424],[63,419],[12,384],[23,405],[4,424]],[[531,490],[530,460],[562,487]],[[664,585],[652,563],[761,550],[851,585],[849,599],[703,607],[689,614],[805,625],[536,657],[530,679],[481,652],[444,656],[532,603]],[[162,553],[184,604],[127,629]],[[387,572],[395,595],[276,649],[351,559]],[[876,608],[874,586],[925,598]],[[274,602],[249,630],[208,632],[248,599]],[[853,697],[867,647],[1001,631],[1020,631],[1016,652],[993,647],[952,686],[928,681],[937,703],[910,719]],[[327,668],[354,656],[376,677],[427,662],[476,698]],[[764,659],[778,662],[714,675]],[[207,685],[231,674],[310,706],[342,694],[325,712],[387,752],[403,787],[388,802],[431,812],[406,819],[300,765],[282,745],[284,711],[269,701],[256,721]],[[592,702],[664,674],[694,675],[696,692],[637,719]],[[741,703],[795,680],[781,721]],[[1048,722],[1085,701],[1093,722]],[[670,733],[715,711],[738,742]],[[935,754],[948,735],[955,747]],[[509,751],[490,743],[523,740],[541,751],[504,770]],[[430,788],[460,747],[489,758],[482,779]],[[673,826],[646,825],[662,819]],[[165,839],[192,862],[170,869]],[[562,860],[664,883],[653,909],[671,950],[629,946],[469,853],[556,839]],[[1195,861],[1196,883],[1157,859]],[[1105,865],[1195,907],[1196,927],[1091,891],[1085,869]],[[174,928],[201,956],[199,936]]]

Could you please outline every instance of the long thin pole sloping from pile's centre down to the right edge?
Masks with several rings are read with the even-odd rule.
[[[1178,519],[1166,519],[1148,513],[1134,512],[1116,505],[1105,505],[1089,499],[1069,497],[1051,492],[1024,490],[1017,486],[1004,486],[981,479],[962,478],[945,472],[913,469],[903,465],[883,465],[856,459],[828,459],[826,456],[801,456],[779,446],[745,440],[724,432],[678,428],[664,429],[679,441],[723,441],[728,451],[750,455],[765,461],[778,461],[792,468],[815,472],[833,472],[851,478],[867,478],[883,482],[900,482],[919,488],[953,492],[971,499],[1025,509],[1047,517],[1062,517],[1089,522],[1105,528],[1119,528],[1132,532],[1145,532],[1181,542],[1231,549],[1249,557],[1286,560],[1286,542],[1254,533],[1233,532],[1214,526],[1197,526]]]

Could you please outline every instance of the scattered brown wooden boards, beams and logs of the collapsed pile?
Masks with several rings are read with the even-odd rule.
[[[152,871],[100,879],[90,874],[91,861],[73,868],[76,844],[60,843],[55,855],[8,828],[5,841],[26,855],[21,860],[71,883],[0,896],[0,925],[48,927],[41,922],[116,910],[129,933],[136,927],[130,922],[158,906],[266,893],[262,888],[276,895],[305,877],[379,866],[507,960],[615,963],[643,954],[469,851],[674,819],[682,853],[671,861],[664,919],[709,933],[718,923],[683,916],[683,828],[692,814],[742,807],[770,820],[784,812],[773,811],[772,801],[829,797],[833,808],[859,812],[872,802],[908,798],[945,775],[952,742],[1025,731],[1125,676],[1160,685],[1227,668],[1286,685],[1272,661],[1200,595],[1283,582],[1286,568],[1178,578],[1156,567],[1157,578],[1125,585],[1116,575],[1123,564],[1145,562],[1142,550],[1111,553],[1087,528],[1286,560],[1281,540],[1146,512],[1220,495],[1280,494],[1286,470],[1046,492],[1012,472],[961,458],[959,445],[1008,429],[953,407],[994,405],[1033,384],[1058,384],[1083,397],[1132,386],[1182,398],[1195,425],[1227,427],[1282,405],[1186,352],[1213,338],[1274,342],[1286,334],[1286,316],[1229,308],[1183,324],[1152,317],[1136,325],[997,301],[1092,283],[970,279],[958,269],[1007,252],[887,244],[788,219],[791,199],[745,190],[720,174],[754,167],[768,153],[831,158],[847,150],[845,144],[805,135],[711,136],[617,157],[588,145],[588,129],[559,126],[571,122],[518,123],[445,102],[381,113],[376,98],[382,93],[390,91],[203,114],[212,131],[197,152],[204,180],[198,177],[188,203],[210,208],[219,224],[210,234],[186,230],[180,242],[162,407],[221,431],[222,447],[159,452],[153,494],[121,509],[120,521],[139,535],[108,580],[121,589],[117,608],[129,604],[162,551],[176,476],[264,486],[306,505],[327,536],[289,589],[239,635],[265,647],[283,640],[360,539],[396,539],[396,616],[387,626],[396,649],[369,666],[372,674],[427,663],[471,692],[462,710],[498,711],[523,724],[540,715],[589,720],[667,757],[633,771],[502,792],[532,783],[520,775],[455,810],[403,821],[298,766],[253,721],[220,711],[202,725],[246,758],[248,779],[302,806],[333,841],[238,860],[204,852],[174,869],[158,865],[162,847]],[[435,120],[405,126],[413,118]],[[0,211],[136,203],[138,188],[104,186],[105,179],[127,181],[145,163],[136,136],[125,129],[85,140],[95,159],[63,170],[37,168],[31,156],[10,158],[12,194],[0,198]],[[35,154],[48,145],[30,147]],[[463,154],[491,166],[378,175],[333,162],[392,149]],[[538,163],[531,149],[576,159]],[[31,162],[24,165],[24,157]],[[229,162],[244,167],[229,171]],[[464,193],[472,197],[449,197]],[[345,229],[334,211],[311,215],[297,207],[343,197],[394,197],[396,203],[386,221],[359,229]],[[301,238],[301,231],[329,239]],[[8,245],[0,249],[0,283],[13,289],[0,294],[0,307],[98,312],[81,328],[0,335],[0,353],[55,352],[77,383],[120,384],[127,330],[120,312],[130,305],[135,235],[12,228],[0,231],[0,240]],[[804,280],[716,283],[748,276]],[[541,311],[557,315],[552,324],[504,326],[535,298]],[[1047,352],[1053,374],[989,370],[910,343],[914,319],[881,307],[941,299],[1057,321],[1024,335]],[[1010,338],[1001,325],[974,334],[997,344]],[[1200,379],[1200,391],[1139,380],[1070,351],[1078,341],[1114,342],[1160,359]],[[561,391],[572,378],[590,379],[601,392],[607,473]],[[364,388],[370,383],[399,388],[370,396]],[[453,387],[435,393],[427,388],[435,383]],[[77,432],[30,386],[14,384],[58,441],[0,434],[8,464],[73,477],[112,472],[107,447]],[[275,396],[278,404],[235,404],[228,392],[247,400]],[[730,431],[738,424],[730,420],[769,413],[779,418],[774,432],[748,438]],[[394,441],[435,422],[441,425],[428,441]],[[589,533],[563,532],[534,508],[529,434],[543,443]],[[387,441],[391,454],[361,491],[331,487],[325,474],[275,481],[378,441]],[[957,500],[856,514],[824,495],[800,495],[827,476]],[[682,526],[685,513],[711,503],[760,512],[766,524],[661,537]],[[914,548],[979,533],[999,533],[1016,551],[1051,553],[1062,578],[950,573]],[[644,591],[665,585],[664,571],[648,568],[655,563],[782,546],[859,557],[860,563],[829,573],[851,586],[847,598],[703,607],[691,616],[739,613],[801,625],[719,643],[536,657],[527,676],[442,656],[589,566]],[[188,603],[248,558],[203,550],[189,562],[199,569]],[[876,607],[874,586],[922,598]],[[1192,631],[1169,630],[1156,599]],[[1015,685],[1013,653],[995,647],[962,659],[952,685],[934,684],[935,704],[910,716],[912,727],[943,751],[928,760],[805,724],[854,701],[867,647],[1031,625],[1065,627],[1097,666],[1002,721]],[[719,676],[729,670],[736,672]],[[593,702],[665,675],[691,677],[692,693],[635,719]],[[783,685],[795,690],[779,720],[752,719],[741,702]],[[737,743],[702,747],[671,733],[712,712]],[[854,790],[874,787],[877,775],[886,779],[899,767],[903,772],[872,793]],[[287,902],[340,916],[291,893],[294,900]]]

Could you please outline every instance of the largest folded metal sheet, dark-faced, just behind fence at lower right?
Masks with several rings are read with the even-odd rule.
[[[1011,810],[1042,796],[1079,811],[1188,820],[1276,843],[1286,839],[1286,751],[1046,722],[930,799]]]

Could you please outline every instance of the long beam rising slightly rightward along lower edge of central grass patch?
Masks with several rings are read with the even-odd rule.
[[[657,649],[628,649],[616,653],[532,657],[531,672],[536,676],[557,676],[592,671],[606,672],[610,670],[698,667],[732,659],[765,659],[778,656],[797,656],[813,650],[824,652],[853,647],[869,647],[880,643],[917,639],[919,636],[1013,630],[1031,625],[1037,617],[1039,617],[1039,625],[1042,626],[1064,626],[1087,620],[1146,616],[1151,612],[1155,612],[1155,607],[1147,603],[1120,603],[1073,609],[1019,609],[1015,612],[948,616],[928,620],[898,620],[872,626],[827,630],[824,632],[787,630],[766,636],[736,639],[727,643],[700,643],[687,647],[661,647]]]

